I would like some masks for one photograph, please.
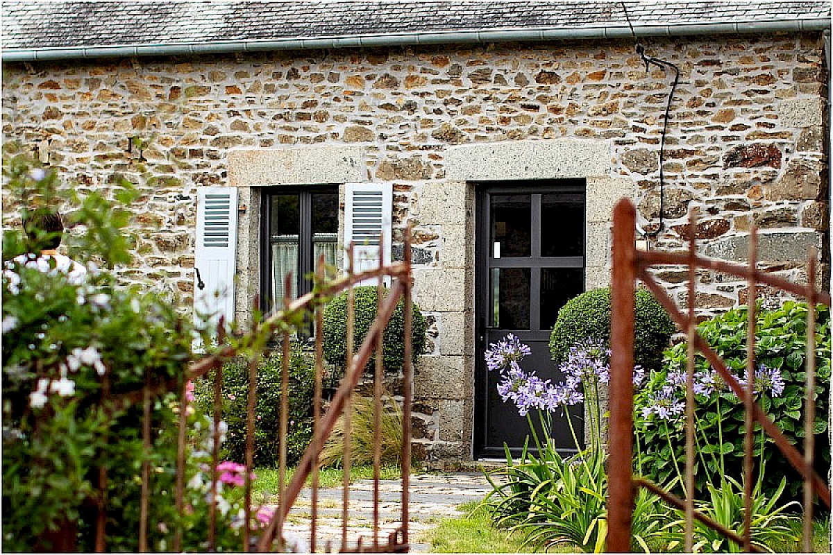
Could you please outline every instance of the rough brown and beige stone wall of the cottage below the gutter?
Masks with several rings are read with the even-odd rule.
[[[754,224],[764,268],[803,280],[815,245],[824,253],[820,274],[828,275],[821,41],[821,33],[807,33],[647,44],[651,56],[681,68],[666,139],[665,227],[651,248],[684,245],[686,210],[698,206],[697,237],[707,255],[742,260]],[[185,307],[192,302],[196,187],[240,185],[229,161],[251,151],[287,160],[311,146],[357,153],[351,171],[393,184],[394,240],[416,225],[416,300],[431,321],[431,355],[416,384],[419,440],[435,456],[466,457],[477,356],[476,191],[459,178],[459,156],[453,167],[447,157],[479,144],[583,141],[602,154],[596,181],[588,181],[594,195],[629,184],[641,229],[653,230],[670,83],[670,75],[646,72],[630,41],[8,63],[2,130],[80,191],[107,187],[115,171],[137,182],[138,243],[122,276],[175,291]],[[540,177],[546,163],[516,166],[511,178]],[[283,182],[287,164],[276,166],[273,184]],[[311,171],[314,182],[342,182]],[[553,171],[550,177],[571,176]],[[259,196],[257,186],[244,188],[238,271],[250,277],[238,309],[250,305],[258,275]],[[588,194],[588,215],[599,225],[588,235],[588,264],[595,262],[587,284],[604,285],[610,214],[595,196]],[[17,223],[5,197],[2,208],[5,223]],[[656,275],[685,305],[685,270]],[[704,315],[745,300],[741,282],[706,271],[700,279]]]

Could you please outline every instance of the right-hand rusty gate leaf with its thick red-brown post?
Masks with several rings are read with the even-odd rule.
[[[613,213],[613,280],[611,290],[611,424],[610,424],[610,459],[608,461],[610,489],[607,498],[608,536],[607,551],[623,553],[631,551],[631,517],[636,488],[647,488],[667,503],[685,511],[686,552],[691,553],[693,545],[694,520],[706,524],[738,543],[747,553],[756,551],[751,543],[751,484],[752,484],[752,431],[755,424],[775,441],[785,458],[801,473],[804,478],[804,550],[811,549],[813,498],[818,496],[828,508],[831,506],[831,492],[825,481],[813,468],[813,423],[815,421],[815,401],[812,392],[816,387],[816,345],[815,334],[807,334],[806,342],[806,399],[804,408],[805,444],[804,453],[800,453],[786,437],[781,434],[776,424],[764,413],[753,396],[755,376],[755,325],[756,325],[756,285],[765,284],[803,297],[808,302],[807,330],[816,328],[816,304],[831,305],[831,296],[816,290],[816,252],[813,250],[807,261],[808,285],[796,285],[775,275],[766,274],[756,269],[757,246],[756,230],[753,227],[749,235],[748,264],[739,265],[722,260],[713,260],[696,254],[696,212],[689,216],[689,245],[686,252],[661,252],[637,250],[635,244],[636,209],[626,199],[619,201]],[[688,266],[688,314],[677,308],[665,290],[654,280],[649,269],[653,265]],[[726,368],[726,364],[712,350],[706,340],[696,331],[695,300],[696,270],[717,270],[726,274],[746,278],[749,284],[748,327],[746,341],[746,388]],[[686,369],[686,492],[689,498],[681,499],[663,490],[655,483],[644,478],[634,478],[632,474],[633,443],[633,369],[634,347],[634,293],[636,280],[651,290],[663,307],[671,315],[681,331],[688,337],[688,364]],[[695,351],[705,356],[716,369],[730,389],[743,399],[746,411],[745,422],[745,458],[744,458],[744,502],[745,523],[740,533],[727,530],[694,509],[694,358]],[[674,456],[673,453],[671,456]]]

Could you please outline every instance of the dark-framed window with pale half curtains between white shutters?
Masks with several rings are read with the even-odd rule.
[[[292,273],[289,297],[312,290],[307,275],[318,256],[327,265],[338,263],[337,187],[264,190],[262,234],[262,307],[265,312],[283,305],[284,279]]]

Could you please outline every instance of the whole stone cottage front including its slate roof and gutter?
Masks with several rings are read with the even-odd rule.
[[[623,196],[651,249],[684,245],[696,206],[706,255],[743,260],[756,225],[766,270],[805,280],[816,247],[829,284],[827,2],[626,2],[630,25],[621,2],[457,3],[6,2],[2,131],[79,191],[107,188],[113,172],[136,182],[138,242],[120,275],[172,290],[185,308],[199,191],[235,188],[243,320],[272,279],[267,196],[330,187],[341,242],[345,184],[389,187],[392,256],[413,225],[414,295],[431,324],[415,415],[429,458],[491,454],[478,364],[500,326],[478,303],[495,290],[491,271],[504,271],[490,260],[506,222],[483,225],[498,209],[531,202],[549,226],[535,249],[556,236],[583,250],[565,256],[575,273],[546,294],[556,300],[531,310],[542,329],[554,291],[609,284],[611,208]],[[662,192],[673,75],[646,71],[636,42],[680,70]],[[3,213],[16,223],[14,206]],[[504,285],[544,287],[543,274],[519,285],[523,275],[507,272]],[[684,269],[657,278],[686,305]],[[745,284],[716,272],[698,287],[704,315],[746,300]]]

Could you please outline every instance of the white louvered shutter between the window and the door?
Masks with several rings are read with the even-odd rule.
[[[352,242],[354,269],[372,270],[379,265],[379,236],[383,236],[385,264],[391,262],[393,186],[390,183],[347,183],[344,202],[344,246]],[[347,250],[344,267],[347,269]],[[390,278],[385,283],[390,285]],[[364,280],[362,285],[376,285]]]

